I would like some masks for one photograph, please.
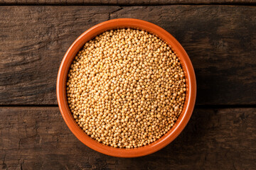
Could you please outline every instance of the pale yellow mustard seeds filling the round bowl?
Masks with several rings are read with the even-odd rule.
[[[183,110],[186,80],[169,45],[144,30],[106,31],[70,66],[70,111],[87,135],[134,148],[168,132]]]

